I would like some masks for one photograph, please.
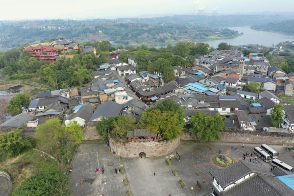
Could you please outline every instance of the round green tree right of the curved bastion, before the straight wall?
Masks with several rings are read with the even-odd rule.
[[[225,130],[223,116],[214,116],[197,112],[189,121],[189,133],[195,135],[201,142],[220,140],[220,131]]]

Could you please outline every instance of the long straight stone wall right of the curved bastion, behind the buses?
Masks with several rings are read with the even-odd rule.
[[[181,140],[197,140],[197,138],[185,131],[181,134]],[[221,132],[221,142],[294,146],[294,134],[230,130]]]

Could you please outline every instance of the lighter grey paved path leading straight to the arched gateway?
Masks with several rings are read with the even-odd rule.
[[[133,196],[186,196],[164,157],[126,159],[124,167]]]

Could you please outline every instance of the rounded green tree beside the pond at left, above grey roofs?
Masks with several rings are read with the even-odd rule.
[[[12,116],[22,113],[22,107],[28,107],[29,99],[29,94],[27,92],[17,94],[15,97],[10,99],[7,111],[11,113]]]

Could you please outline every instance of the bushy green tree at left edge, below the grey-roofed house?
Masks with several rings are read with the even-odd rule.
[[[22,138],[19,130],[12,130],[0,135],[0,149],[8,153],[9,156],[19,155],[20,152],[32,143],[28,138]]]

